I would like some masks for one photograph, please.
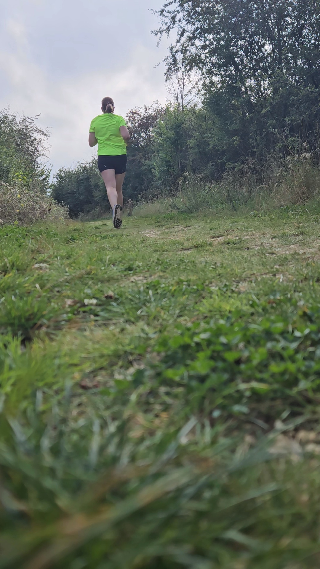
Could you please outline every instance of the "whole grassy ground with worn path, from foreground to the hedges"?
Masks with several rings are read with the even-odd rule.
[[[320,561],[316,207],[0,228],[0,569]]]

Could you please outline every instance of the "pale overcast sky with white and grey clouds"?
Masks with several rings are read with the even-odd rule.
[[[0,0],[0,108],[51,127],[57,170],[91,158],[91,119],[101,98],[116,113],[166,101],[166,53],[150,34],[162,0]]]

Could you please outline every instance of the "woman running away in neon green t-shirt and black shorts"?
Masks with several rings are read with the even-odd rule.
[[[114,102],[111,97],[102,99],[101,110],[103,114],[99,114],[91,122],[89,146],[98,145],[98,168],[112,207],[113,226],[120,229],[124,205],[122,185],[126,173],[126,145],[130,134],[125,119],[114,114]]]

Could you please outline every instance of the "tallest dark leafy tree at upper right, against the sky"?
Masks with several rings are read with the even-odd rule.
[[[279,137],[315,145],[320,119],[320,0],[171,0],[154,33],[174,31],[167,72],[183,59],[235,159],[264,162]],[[282,148],[281,151],[284,151]]]

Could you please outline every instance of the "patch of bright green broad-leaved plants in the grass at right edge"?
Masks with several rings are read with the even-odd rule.
[[[305,390],[312,397],[319,388],[318,307],[294,325],[284,315],[270,314],[267,303],[265,312],[259,324],[243,323],[239,311],[218,325],[197,323],[161,338],[156,347],[165,354],[156,365],[161,384],[183,385],[191,407],[196,410],[205,396],[208,409],[221,414],[251,413],[254,418],[254,408],[257,419],[261,411],[276,419],[276,400],[285,401],[283,411],[306,406]]]

